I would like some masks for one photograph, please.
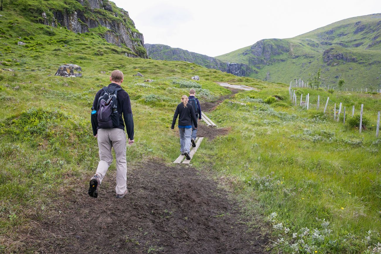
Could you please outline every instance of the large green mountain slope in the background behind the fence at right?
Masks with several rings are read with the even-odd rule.
[[[262,80],[307,81],[321,68],[323,85],[344,78],[348,88],[380,88],[381,14],[344,19],[294,38],[260,40],[216,58],[248,64],[256,70],[250,77]]]

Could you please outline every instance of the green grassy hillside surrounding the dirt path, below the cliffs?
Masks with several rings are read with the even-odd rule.
[[[135,121],[129,165],[153,159],[171,163],[178,156],[178,137],[170,124],[189,88],[201,86],[197,96],[213,103],[231,94],[215,82],[253,86],[258,91],[240,91],[207,113],[230,132],[203,141],[193,166],[210,170],[233,191],[248,225],[271,232],[269,248],[275,253],[378,253],[371,251],[381,241],[381,139],[373,126],[380,95],[300,89],[297,94],[311,96],[307,111],[291,106],[288,85],[282,83],[187,62],[127,58],[123,48],[106,43],[96,31],[74,34],[31,23],[13,11],[1,14],[2,252],[33,253],[20,234],[59,214],[62,193],[70,193],[78,182],[88,184],[98,163],[90,107],[96,91],[109,83],[110,72],[120,69]],[[27,44],[17,45],[18,37]],[[80,65],[83,77],[54,76],[65,63]],[[144,77],[133,77],[136,72]],[[200,81],[191,81],[194,75]],[[154,81],[144,83],[145,78]],[[283,100],[264,103],[275,94]],[[331,113],[314,110],[318,94],[322,100],[330,96],[333,102],[355,105],[356,112],[363,103],[367,130],[359,135],[333,121]],[[332,111],[330,103],[327,112]],[[256,220],[258,214],[263,223]]]

